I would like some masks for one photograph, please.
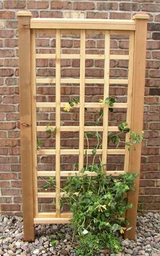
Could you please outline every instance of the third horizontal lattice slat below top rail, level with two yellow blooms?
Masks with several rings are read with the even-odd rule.
[[[60,107],[64,107],[66,103],[60,103]],[[56,103],[37,103],[37,107],[56,107]],[[79,107],[79,104],[75,105],[75,107]],[[85,107],[101,107],[100,103],[85,103]],[[126,109],[127,103],[114,103],[113,108],[117,109]]]

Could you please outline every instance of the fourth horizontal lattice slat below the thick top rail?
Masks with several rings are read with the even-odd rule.
[[[54,130],[56,126],[49,126],[51,130]],[[37,126],[37,132],[45,132],[47,126]],[[96,132],[97,130],[102,132],[103,126],[85,126],[85,132]],[[61,132],[79,132],[79,126],[60,126]],[[109,132],[118,132],[118,126],[108,126]]]

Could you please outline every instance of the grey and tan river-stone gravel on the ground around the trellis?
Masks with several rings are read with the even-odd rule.
[[[0,217],[0,255],[71,255],[75,256],[76,241],[72,240],[73,230],[67,225],[36,225],[35,242],[24,242],[22,217]],[[51,239],[58,241],[52,246]],[[137,219],[137,240],[122,240],[123,253],[117,256],[144,255],[160,256],[160,215],[146,213]],[[100,256],[105,256],[103,251]],[[111,254],[111,256],[113,256]]]

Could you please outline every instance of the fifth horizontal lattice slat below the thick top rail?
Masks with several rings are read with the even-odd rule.
[[[84,154],[86,150],[89,155],[92,155],[92,149],[84,149]],[[55,155],[56,149],[41,149],[37,151],[37,154],[38,155]],[[79,149],[60,149],[60,154],[61,155],[79,155]],[[98,155],[102,154],[102,149],[97,149],[97,154]],[[107,149],[107,154],[108,155],[124,155],[125,149]]]

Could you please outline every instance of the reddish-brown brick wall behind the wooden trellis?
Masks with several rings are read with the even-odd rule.
[[[21,181],[20,181],[20,130],[19,130],[19,97],[18,97],[18,31],[16,12],[20,9],[31,10],[33,17],[49,18],[119,18],[130,19],[139,11],[148,12],[151,18],[148,22],[146,89],[144,106],[144,141],[142,147],[142,164],[140,175],[140,200],[147,210],[160,209],[160,156],[159,156],[159,65],[160,65],[160,1],[0,1],[0,187],[2,213],[21,214]],[[39,47],[54,46],[54,40],[46,37],[39,39]],[[67,44],[68,43],[68,44]],[[92,48],[93,40],[89,41]],[[66,41],[66,48],[73,48],[72,42]],[[100,46],[101,47],[101,46]],[[121,46],[125,49],[125,46]],[[39,61],[39,67],[45,62]],[[48,64],[47,64],[48,65]],[[64,62],[64,67],[70,67]],[[73,65],[73,66],[72,66]],[[79,63],[75,60],[72,68],[76,70]],[[75,65],[75,66],[74,66]],[[87,63],[93,66],[92,62]],[[114,65],[114,64],[113,64]],[[119,69],[123,67],[118,66]],[[100,63],[97,62],[96,72],[100,75]],[[68,69],[69,70],[69,69]],[[73,69],[72,69],[73,70]],[[44,69],[41,69],[43,75]],[[42,72],[42,73],[41,73]],[[67,71],[67,72],[71,72]],[[76,72],[76,71],[75,71]],[[89,90],[89,89],[88,89]],[[88,91],[89,92],[89,91]],[[39,89],[39,97],[52,95],[53,89]],[[75,94],[71,89],[64,94]],[[95,93],[100,93],[97,89]],[[115,92],[116,93],[116,92]],[[40,95],[41,94],[41,95]],[[77,114],[74,118],[77,118]],[[120,115],[120,113],[118,113]],[[54,115],[54,113],[52,113]],[[93,118],[93,115],[88,115]],[[123,118],[123,113],[121,118]],[[39,113],[39,119],[45,122],[50,118],[48,113]],[[121,119],[120,118],[120,119]],[[67,117],[64,116],[64,120]],[[69,123],[69,122],[68,122]],[[66,138],[67,134],[64,134]],[[74,145],[71,139],[68,146]],[[65,143],[64,143],[65,144]],[[51,143],[51,145],[53,145]],[[65,144],[66,145],[66,144]],[[53,159],[49,158],[47,163]],[[73,162],[76,159],[73,159]],[[112,162],[112,161],[111,161]],[[121,163],[121,160],[119,160]],[[46,164],[46,158],[42,159]],[[70,168],[70,167],[68,167]],[[43,200],[42,200],[43,201]],[[42,207],[43,208],[43,207]]]

